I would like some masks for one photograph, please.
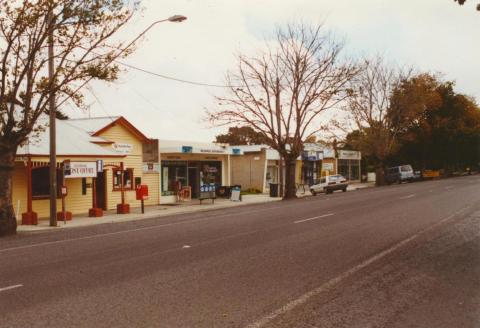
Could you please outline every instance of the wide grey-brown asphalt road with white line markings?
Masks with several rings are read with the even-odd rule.
[[[4,238],[0,327],[480,327],[480,176]]]

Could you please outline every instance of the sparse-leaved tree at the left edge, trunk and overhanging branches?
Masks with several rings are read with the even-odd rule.
[[[82,104],[91,79],[111,81],[111,65],[129,53],[112,42],[137,1],[16,0],[0,2],[0,235],[15,233],[12,171],[19,145],[42,129],[51,94],[61,105]],[[55,74],[48,78],[47,44],[53,31]]]

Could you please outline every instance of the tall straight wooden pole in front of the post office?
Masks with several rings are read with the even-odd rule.
[[[53,9],[48,13],[48,80],[49,80],[49,123],[50,123],[50,226],[57,226],[57,147],[56,147],[56,108],[54,78],[53,30],[55,18]]]

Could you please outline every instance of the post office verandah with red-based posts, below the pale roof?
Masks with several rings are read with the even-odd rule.
[[[70,166],[69,169],[66,169],[66,163]],[[16,217],[18,220],[21,218],[22,224],[37,224],[39,218],[49,217],[49,166],[50,162],[44,159],[32,159],[31,156],[17,158],[13,172],[13,205]],[[122,170],[122,161],[59,159],[56,166],[57,220],[71,220],[72,215],[83,214],[100,217],[104,210],[112,208],[108,202],[112,197],[108,188],[109,170],[113,172],[110,173],[113,188],[120,192],[119,204],[123,204],[122,208],[128,207],[125,189],[133,184],[133,181],[128,175],[129,171]]]

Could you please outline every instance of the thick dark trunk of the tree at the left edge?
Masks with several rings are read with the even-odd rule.
[[[12,204],[12,178],[15,151],[0,148],[0,237],[17,232],[17,219]]]

